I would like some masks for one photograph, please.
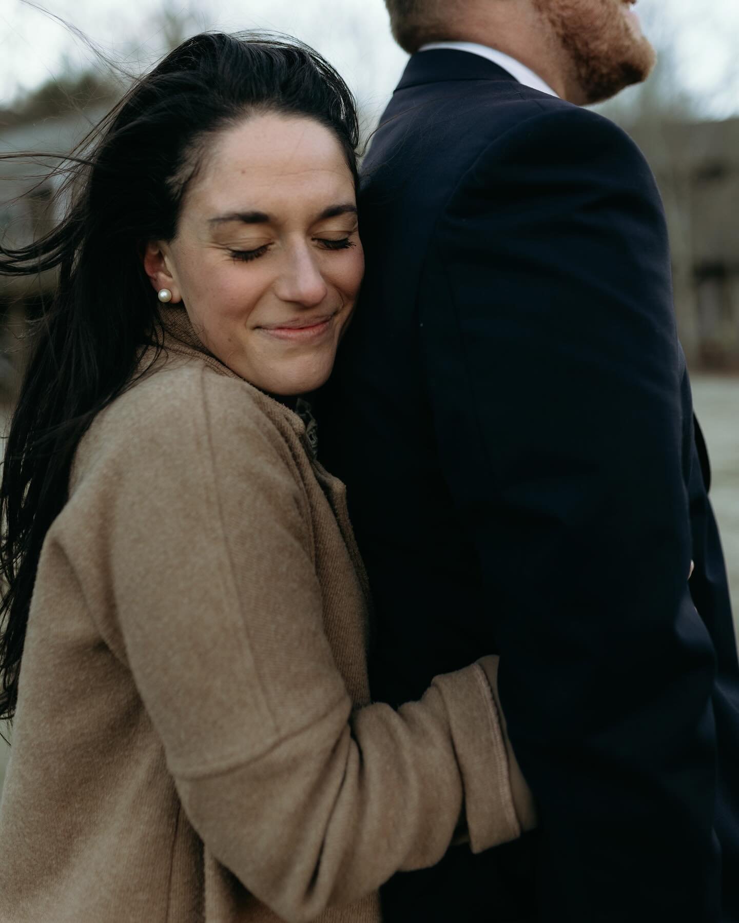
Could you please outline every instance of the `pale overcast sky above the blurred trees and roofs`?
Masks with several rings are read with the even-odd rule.
[[[160,0],[41,2],[116,59],[138,60],[143,66],[163,50],[161,27],[152,12]],[[372,111],[382,107],[406,61],[390,35],[382,0],[164,3],[200,28],[267,28],[297,35],[338,67]],[[677,79],[700,95],[701,111],[715,117],[739,114],[739,2],[640,0],[639,8],[650,28],[664,35],[677,54]],[[91,54],[64,26],[22,0],[0,0],[0,104],[58,73],[65,60],[84,66]]]

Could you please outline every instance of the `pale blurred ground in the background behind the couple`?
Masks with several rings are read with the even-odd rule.
[[[739,627],[739,378],[694,377],[693,393],[709,444],[713,468],[711,497],[721,527],[734,617]],[[0,740],[0,788],[6,759],[7,748]]]

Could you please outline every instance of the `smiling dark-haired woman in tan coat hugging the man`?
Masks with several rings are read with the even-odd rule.
[[[394,871],[532,825],[494,658],[369,704],[343,486],[295,413],[361,281],[356,145],[317,54],[200,35],[5,254],[60,276],[0,491],[0,920],[379,920]]]

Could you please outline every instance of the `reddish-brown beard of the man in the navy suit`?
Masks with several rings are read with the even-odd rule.
[[[624,0],[536,0],[574,66],[584,99],[608,100],[646,80],[656,61],[625,15]]]

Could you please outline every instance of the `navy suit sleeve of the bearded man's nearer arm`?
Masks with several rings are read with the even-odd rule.
[[[539,918],[713,920],[714,652],[687,585],[684,360],[639,151],[575,109],[498,139],[445,206],[419,305],[489,601],[476,629],[539,803]]]

